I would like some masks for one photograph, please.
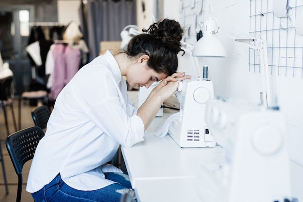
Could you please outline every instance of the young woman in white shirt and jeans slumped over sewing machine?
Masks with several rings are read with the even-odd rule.
[[[163,101],[189,78],[176,72],[180,24],[164,19],[143,31],[126,50],[107,51],[82,67],[57,97],[27,181],[36,202],[120,202],[124,193],[134,195],[128,175],[106,162],[119,145],[144,140]],[[136,109],[122,76],[130,86],[162,81]]]

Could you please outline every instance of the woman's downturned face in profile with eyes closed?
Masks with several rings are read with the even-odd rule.
[[[128,67],[126,78],[131,87],[149,88],[153,82],[161,81],[168,75],[157,73],[147,65],[148,57],[140,57],[135,64]]]

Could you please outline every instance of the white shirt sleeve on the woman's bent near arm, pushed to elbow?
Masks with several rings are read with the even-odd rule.
[[[80,73],[68,84],[72,88],[69,92],[74,101],[78,102],[77,106],[87,115],[87,120],[98,127],[100,132],[110,136],[118,144],[130,147],[144,140],[144,123],[136,115],[136,109],[129,106],[124,94],[126,83],[125,89],[124,86],[120,88],[116,80],[118,76],[115,77],[109,71],[120,71],[118,64],[106,57],[112,56],[99,56],[88,66],[81,68]],[[121,75],[119,78],[121,79]]]

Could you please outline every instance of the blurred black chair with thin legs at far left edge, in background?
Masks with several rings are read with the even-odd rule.
[[[17,131],[17,124],[15,119],[15,113],[14,113],[14,103],[11,98],[12,83],[13,83],[13,76],[9,76],[0,80],[0,106],[3,110],[7,136],[11,134],[8,127],[8,119],[7,119],[7,111],[6,111],[8,107],[11,109],[15,131]]]

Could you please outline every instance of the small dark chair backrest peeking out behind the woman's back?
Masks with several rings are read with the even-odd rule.
[[[35,126],[39,126],[41,129],[46,129],[46,124],[50,116],[50,111],[47,106],[41,105],[35,107],[31,111],[31,116]]]

